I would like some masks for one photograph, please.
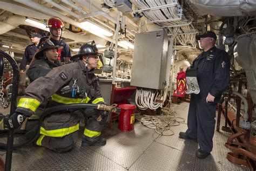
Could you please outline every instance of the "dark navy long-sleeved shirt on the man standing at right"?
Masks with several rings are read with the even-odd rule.
[[[215,46],[201,53],[192,63],[197,67],[197,80],[202,92],[220,97],[227,88],[230,79],[230,58],[228,54]]]

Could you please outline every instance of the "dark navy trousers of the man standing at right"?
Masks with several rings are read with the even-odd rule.
[[[207,153],[212,151],[216,104],[206,103],[206,96],[192,94],[187,118],[186,135],[197,139],[199,147]]]

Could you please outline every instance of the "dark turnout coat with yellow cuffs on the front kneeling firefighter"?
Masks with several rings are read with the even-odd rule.
[[[71,91],[62,94],[66,86]],[[72,96],[73,86],[79,89],[74,96]],[[26,88],[25,96],[19,100],[16,112],[31,116],[38,106],[50,97],[52,105],[104,102],[96,75],[89,73],[86,77],[85,64],[81,60],[53,68],[46,76],[33,81]]]

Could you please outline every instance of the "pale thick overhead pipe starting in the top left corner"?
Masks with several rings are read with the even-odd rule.
[[[20,16],[26,16],[26,17],[32,17],[32,18],[42,18],[42,19],[50,18],[50,16],[45,15],[44,13],[37,12],[35,10],[28,9],[28,8],[25,8],[20,5],[7,3],[7,2],[3,2],[3,1],[1,1],[0,9],[10,11],[10,12],[15,13],[16,15],[20,15]]]

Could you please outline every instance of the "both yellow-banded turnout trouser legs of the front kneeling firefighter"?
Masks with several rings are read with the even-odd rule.
[[[47,147],[56,152],[70,151],[78,140],[79,111],[53,113],[42,123],[40,137],[36,145]],[[106,118],[100,117],[100,111],[87,108],[83,141],[94,143],[100,139]],[[87,117],[90,115],[90,117]]]

